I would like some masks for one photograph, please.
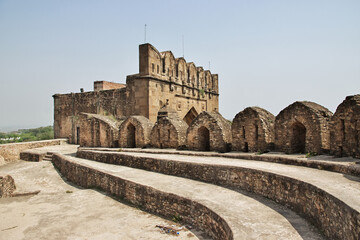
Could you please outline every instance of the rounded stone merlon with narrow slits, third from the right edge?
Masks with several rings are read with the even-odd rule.
[[[239,112],[231,125],[232,150],[264,152],[271,150],[275,140],[275,116],[259,107]]]

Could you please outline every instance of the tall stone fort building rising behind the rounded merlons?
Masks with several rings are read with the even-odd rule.
[[[188,124],[202,111],[219,110],[218,75],[150,44],[139,46],[139,73],[127,76],[126,85],[97,81],[94,91],[54,96],[55,138],[78,143],[76,119],[81,113],[144,116],[152,123],[168,105]],[[81,131],[82,133],[84,131]]]

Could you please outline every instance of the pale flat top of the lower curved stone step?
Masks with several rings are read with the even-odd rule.
[[[317,230],[288,209],[263,198],[254,199],[242,192],[186,178],[60,154],[55,154],[53,162],[60,172],[66,174],[68,180],[73,180],[75,183],[76,181],[92,181],[91,184],[88,182],[86,184],[92,185],[98,182],[105,184],[105,187],[112,186],[112,189],[115,189],[116,184],[111,183],[110,179],[116,176],[126,181],[125,185],[137,184],[152,189],[151,191],[138,191],[136,187],[130,187],[124,191],[125,196],[130,196],[129,198],[134,197],[135,194],[135,198],[141,200],[151,199],[146,195],[148,191],[151,193],[154,191],[165,192],[181,197],[183,200],[180,202],[184,203],[185,208],[190,207],[192,209],[190,212],[196,212],[196,209],[193,209],[194,203],[198,203],[219,215],[228,224],[233,239],[323,239]],[[88,170],[74,170],[75,166],[85,167]],[[71,171],[75,171],[76,174]],[[94,173],[95,171],[97,173]],[[81,175],[82,172],[86,176]],[[93,173],[98,179],[89,176],[90,173]],[[144,195],[141,195],[142,193]],[[161,197],[159,198],[161,199]],[[185,206],[189,201],[194,203],[191,206]],[[156,211],[161,211],[169,206],[163,201],[159,201],[153,207]],[[202,221],[210,220],[204,217]],[[219,224],[218,222],[221,221],[213,222],[210,225]]]

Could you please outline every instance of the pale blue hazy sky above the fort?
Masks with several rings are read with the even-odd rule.
[[[147,41],[219,74],[220,113],[332,112],[360,93],[360,1],[0,0],[0,130],[53,123],[55,93],[125,82]]]

